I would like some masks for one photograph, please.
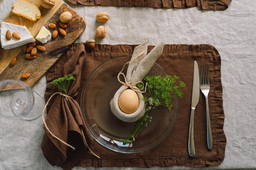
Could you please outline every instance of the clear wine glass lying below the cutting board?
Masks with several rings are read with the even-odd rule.
[[[22,81],[0,82],[0,115],[9,119],[34,120],[42,114],[43,97]],[[34,107],[36,106],[36,107]]]

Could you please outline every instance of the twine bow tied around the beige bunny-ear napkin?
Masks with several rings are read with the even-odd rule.
[[[122,71],[124,70],[124,67],[126,66],[126,64],[129,64],[130,62],[133,62],[134,60],[136,60],[137,58],[139,58],[141,55],[143,55],[145,53],[145,51],[142,51],[139,55],[137,55],[134,59],[130,60],[129,62],[126,62],[122,68],[122,70],[118,73],[117,75],[117,79],[118,79],[118,82],[131,88],[133,91],[135,92],[139,92],[139,93],[145,93],[146,92],[146,86],[148,83],[146,83],[146,86],[145,86],[145,91],[143,91],[144,89],[144,83],[139,81],[139,82],[136,82],[134,84],[131,84],[131,80],[127,81],[126,80],[126,76],[124,75],[124,73],[122,73]],[[134,70],[135,71],[135,70]],[[122,75],[124,77],[124,82],[122,82],[120,80],[120,75]],[[138,88],[137,85],[138,84],[142,84],[142,87],[141,88]]]

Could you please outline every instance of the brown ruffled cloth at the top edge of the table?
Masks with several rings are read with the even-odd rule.
[[[72,4],[108,5],[117,7],[187,8],[225,10],[231,0],[68,0]]]

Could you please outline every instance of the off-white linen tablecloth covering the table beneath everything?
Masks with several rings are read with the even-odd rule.
[[[0,22],[11,11],[15,0],[0,1]],[[67,2],[67,1],[65,1]],[[68,3],[70,4],[70,3]],[[256,3],[233,0],[225,11],[189,9],[153,9],[148,7],[86,7],[70,4],[86,21],[85,32],[77,42],[94,38],[97,44],[140,44],[150,38],[150,45],[211,44],[222,60],[224,130],[227,137],[224,161],[205,169],[256,169]],[[106,11],[106,23],[96,21],[96,14]],[[95,38],[98,26],[107,28],[107,37]],[[0,56],[1,57],[1,56]],[[33,88],[44,95],[46,77]],[[189,126],[189,125],[188,125]],[[44,130],[41,119],[9,121],[0,117],[1,170],[60,170],[52,167],[40,149]],[[83,170],[75,167],[74,170]],[[92,168],[87,170],[195,170],[184,166],[169,168]]]

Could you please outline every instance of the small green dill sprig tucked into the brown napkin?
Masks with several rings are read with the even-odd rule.
[[[65,95],[67,95],[67,89],[69,88],[72,81],[75,79],[76,78],[72,74],[69,74],[69,75],[65,75],[64,77],[55,79],[54,81],[51,82],[51,84],[53,84],[54,86],[64,91]]]

